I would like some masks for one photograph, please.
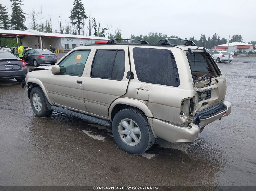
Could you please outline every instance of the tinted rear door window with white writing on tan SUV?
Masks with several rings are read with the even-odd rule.
[[[123,50],[97,50],[91,69],[91,77],[122,80],[125,72]]]

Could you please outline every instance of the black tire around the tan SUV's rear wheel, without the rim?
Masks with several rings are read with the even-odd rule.
[[[127,145],[119,135],[119,124],[123,119],[132,119],[138,124],[140,129],[140,141],[135,146]],[[148,150],[153,144],[151,142],[151,134],[146,116],[135,108],[126,108],[119,111],[112,122],[112,133],[117,145],[124,151],[131,154],[141,154]],[[126,135],[128,136],[128,135]]]

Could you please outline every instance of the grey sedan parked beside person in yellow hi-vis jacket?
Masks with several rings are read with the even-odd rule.
[[[24,60],[34,66],[40,64],[54,65],[57,62],[57,55],[46,49],[29,49],[24,53]]]

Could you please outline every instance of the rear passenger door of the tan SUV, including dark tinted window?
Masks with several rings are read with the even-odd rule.
[[[111,48],[96,46],[84,84],[86,108],[95,116],[106,119],[109,118],[110,104],[126,93],[129,82],[126,74],[130,71],[128,47],[118,45],[118,49]]]

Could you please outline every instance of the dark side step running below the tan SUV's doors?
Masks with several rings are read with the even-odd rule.
[[[52,108],[52,110],[59,111],[59,112],[62,112],[62,113],[66,113],[68,115],[78,117],[78,118],[81,118],[81,119],[85,119],[85,120],[93,122],[93,123],[98,123],[98,124],[108,126],[108,127],[112,126],[112,123],[110,121],[106,121],[104,119],[99,119],[97,117],[89,116],[89,115],[86,115],[86,114],[83,114],[83,113],[78,113],[78,112],[75,112],[75,111],[64,109],[62,107],[52,106],[51,108]]]

